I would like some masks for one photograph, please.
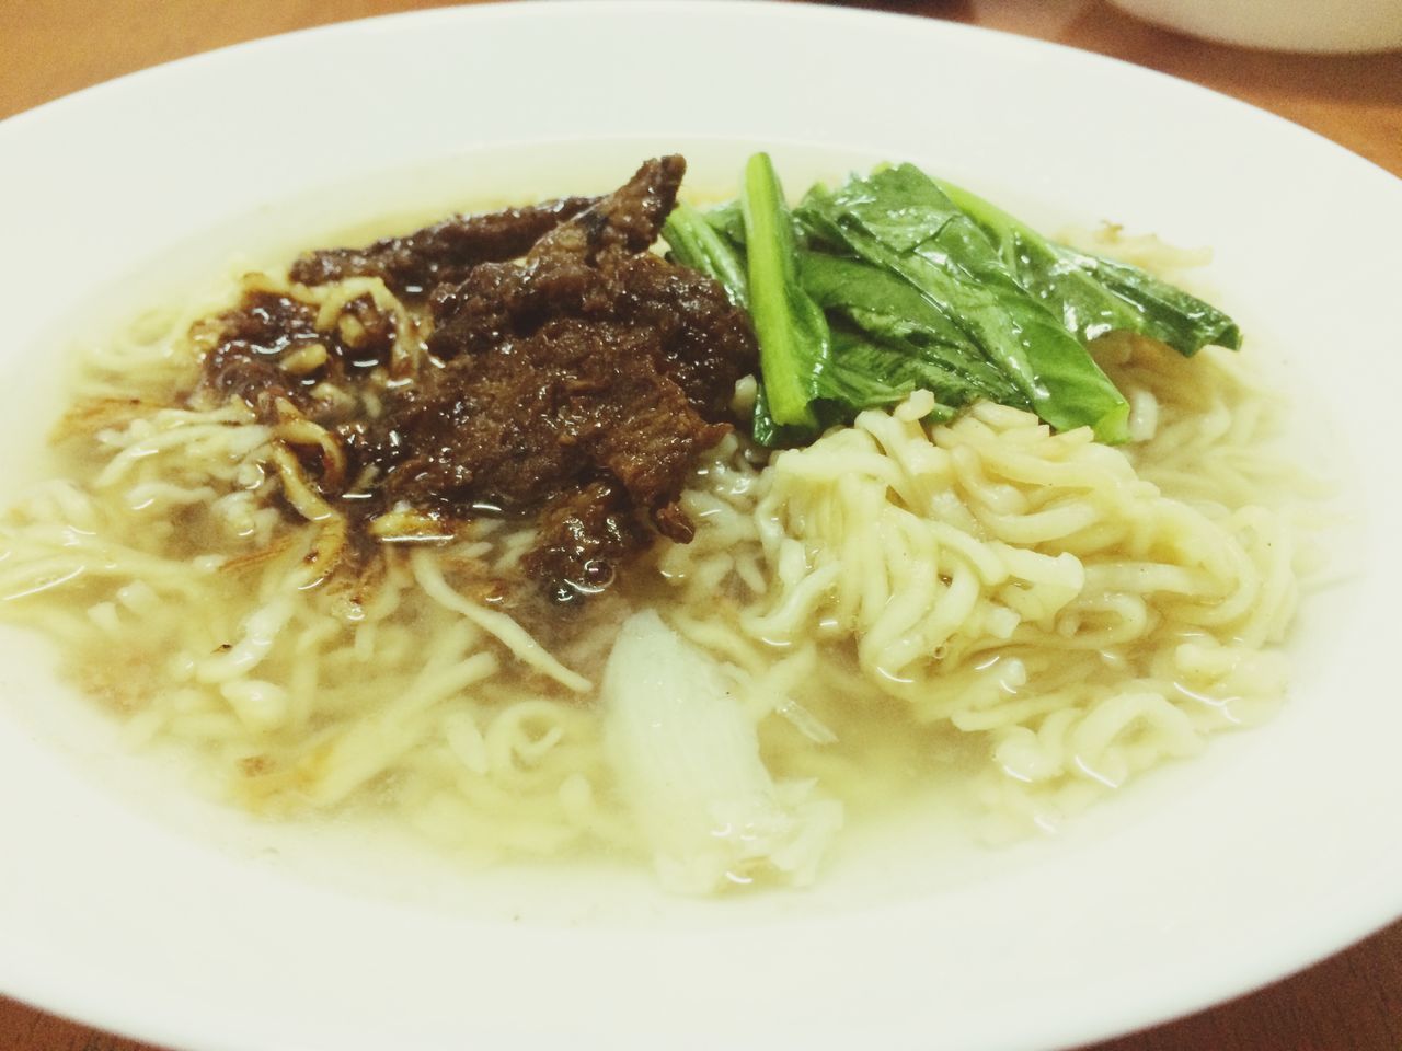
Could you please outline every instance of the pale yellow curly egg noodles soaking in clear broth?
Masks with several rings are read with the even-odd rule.
[[[370,296],[395,353],[422,353],[379,279],[244,287],[320,304],[324,328]],[[133,746],[178,743],[257,813],[390,810],[475,855],[644,855],[596,698],[617,621],[557,643],[494,603],[531,545],[502,518],[338,569],[346,520],[293,454],[334,443],[290,412],[186,404],[191,321],[84,359],[63,475],[0,527],[0,612],[56,640]],[[1269,394],[1216,349],[1095,353],[1129,446],[990,404],[927,429],[916,392],[806,448],[732,434],[698,465],[695,540],[658,541],[624,594],[718,663],[781,785],[851,817],[953,767],[1001,835],[1277,705],[1297,580]]]

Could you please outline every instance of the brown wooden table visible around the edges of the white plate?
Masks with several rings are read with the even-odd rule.
[[[430,6],[423,0],[11,0],[0,6],[0,118],[226,43]],[[1314,57],[1209,45],[1138,22],[1101,0],[862,6],[1060,41],[1195,80],[1402,175],[1402,53]],[[6,999],[0,999],[0,1050],[154,1051]],[[1252,996],[1094,1051],[1402,1051],[1402,923]]]

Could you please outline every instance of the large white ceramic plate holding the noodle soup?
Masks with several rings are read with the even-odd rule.
[[[906,849],[848,849],[810,894],[677,901],[573,870],[453,891],[414,866],[327,865],[345,844],[286,862],[301,848],[179,793],[147,806],[52,656],[11,632],[0,989],[200,1051],[1007,1051],[1206,1006],[1402,912],[1402,186],[1207,91],[935,21],[767,4],[477,7],[216,52],[0,126],[0,419],[32,419],[84,325],[350,205],[597,188],[658,149],[721,188],[756,146],[795,188],[910,158],[1035,219],[1217,249],[1220,298],[1301,391],[1301,436],[1366,479],[1361,569],[1309,600],[1284,715],[1061,837],[959,853],[911,830]]]

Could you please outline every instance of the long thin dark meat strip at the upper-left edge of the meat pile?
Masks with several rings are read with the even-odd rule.
[[[367,248],[308,252],[292,265],[290,276],[303,284],[355,276],[381,277],[395,293],[412,298],[443,282],[463,280],[478,263],[524,255],[541,237],[594,202],[594,198],[561,198],[481,216],[453,216],[408,237],[387,237]]]

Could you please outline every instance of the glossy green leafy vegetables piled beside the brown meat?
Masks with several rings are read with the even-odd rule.
[[[981,198],[901,164],[815,186],[794,212],[767,154],[739,200],[680,205],[673,258],[749,308],[760,343],[754,439],[791,444],[916,390],[951,419],[977,399],[1059,430],[1129,437],[1129,404],[1085,348],[1123,329],[1183,355],[1237,349],[1216,307],[1126,263],[1050,241]]]

